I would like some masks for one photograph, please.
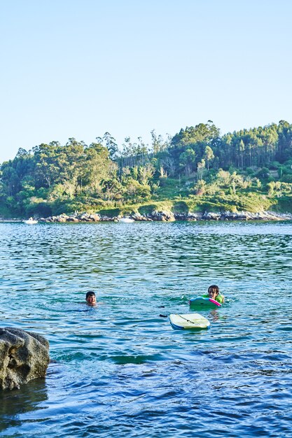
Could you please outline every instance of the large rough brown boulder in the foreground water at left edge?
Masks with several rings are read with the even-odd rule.
[[[19,389],[23,383],[45,377],[49,362],[49,343],[40,334],[0,328],[0,389]]]

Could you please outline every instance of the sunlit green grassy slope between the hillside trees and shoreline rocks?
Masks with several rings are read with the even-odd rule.
[[[101,199],[59,199],[53,206],[53,214],[72,213],[74,211],[98,212],[102,215],[113,217],[118,215],[130,215],[140,213],[145,215],[156,211],[173,211],[174,213],[195,213],[204,211],[260,211],[273,210],[277,212],[292,213],[292,195],[283,197],[269,197],[262,189],[237,190],[236,195],[230,189],[221,190],[216,195],[193,195],[194,181],[192,179],[176,180],[164,178],[160,181],[159,188],[148,201],[136,203],[105,202]],[[32,211],[29,216],[43,216],[42,213]],[[0,216],[4,218],[15,217],[7,209],[0,206]],[[48,215],[47,215],[48,216]]]

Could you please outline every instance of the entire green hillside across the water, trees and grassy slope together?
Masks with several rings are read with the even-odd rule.
[[[292,125],[224,134],[211,120],[164,138],[151,132],[118,148],[106,132],[20,148],[0,167],[0,215],[74,211],[292,211]]]

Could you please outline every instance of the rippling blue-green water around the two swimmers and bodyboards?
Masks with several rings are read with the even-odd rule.
[[[2,223],[0,258],[0,326],[52,360],[0,394],[1,437],[291,436],[291,222]],[[160,317],[212,283],[209,330]]]

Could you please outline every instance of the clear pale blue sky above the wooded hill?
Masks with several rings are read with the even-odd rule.
[[[69,137],[292,122],[291,0],[0,0],[0,162]]]

